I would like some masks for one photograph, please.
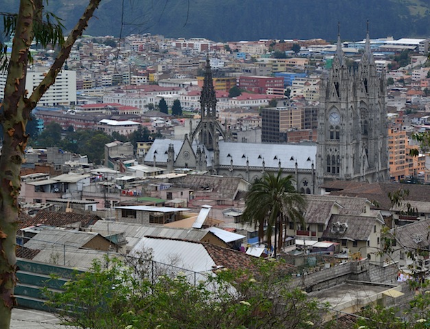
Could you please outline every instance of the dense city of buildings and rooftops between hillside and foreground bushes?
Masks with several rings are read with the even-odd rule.
[[[430,39],[363,36],[79,38],[33,111],[18,305],[47,310],[52,273],[61,286],[95,259],[145,255],[153,281],[194,286],[278,259],[339,328],[370,304],[411,300],[408,282],[430,271],[429,145],[414,138],[430,130]],[[55,55],[31,51],[28,90]],[[272,179],[291,188],[283,210],[250,217]]]

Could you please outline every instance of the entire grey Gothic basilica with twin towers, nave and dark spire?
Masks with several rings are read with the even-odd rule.
[[[145,164],[241,177],[249,182],[265,172],[292,175],[302,193],[320,193],[332,180],[388,180],[385,75],[378,75],[369,34],[358,69],[346,65],[340,36],[328,77],[320,88],[316,145],[230,141],[217,121],[209,59],[200,97],[201,119],[182,141],[156,139]]]

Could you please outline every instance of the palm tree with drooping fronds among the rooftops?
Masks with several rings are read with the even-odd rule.
[[[287,234],[284,228],[289,222],[300,221],[304,226],[304,197],[296,192],[292,176],[282,177],[282,171],[276,175],[265,173],[262,178],[255,180],[246,196],[245,205],[241,220],[258,227],[260,241],[266,237],[267,245],[272,245],[272,229],[275,228],[275,255],[276,248],[283,247],[286,238],[284,232]]]

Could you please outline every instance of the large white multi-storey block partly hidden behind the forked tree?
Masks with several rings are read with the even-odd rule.
[[[32,90],[42,82],[47,70],[45,67],[38,67],[27,71],[25,89],[31,95]],[[6,73],[0,73],[0,98],[4,97],[6,83]],[[76,103],[76,72],[62,70],[56,77],[56,82],[47,90],[45,95],[38,102],[41,106],[71,105]]]

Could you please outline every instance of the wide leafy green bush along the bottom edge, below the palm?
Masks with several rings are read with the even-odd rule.
[[[323,328],[325,306],[289,287],[282,263],[219,269],[191,284],[186,276],[154,282],[117,259],[95,260],[63,293],[45,289],[49,306],[76,328]]]

